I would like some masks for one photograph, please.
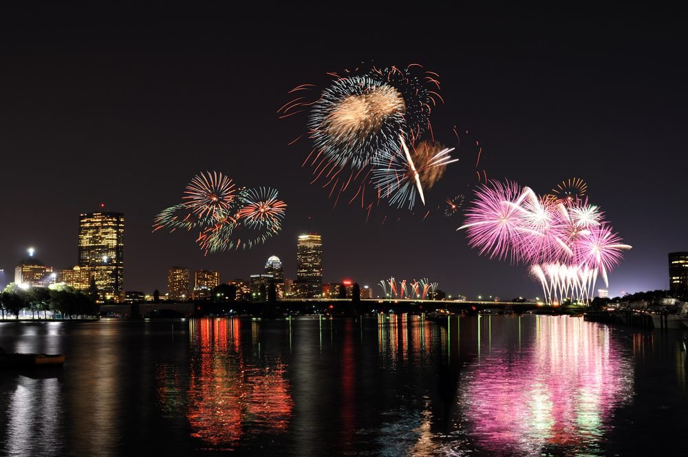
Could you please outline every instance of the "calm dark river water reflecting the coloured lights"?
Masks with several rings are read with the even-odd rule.
[[[682,332],[574,317],[0,323],[0,455],[686,454]]]

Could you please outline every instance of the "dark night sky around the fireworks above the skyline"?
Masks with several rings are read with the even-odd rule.
[[[311,215],[325,281],[429,277],[451,294],[537,295],[524,266],[466,246],[460,215],[422,221],[388,209],[366,224],[361,209],[333,209],[309,184],[308,140],[287,145],[305,118],[278,120],[277,108],[292,87],[361,61],[437,72],[445,103],[433,113],[436,136],[451,143],[453,125],[469,129],[434,201],[469,196],[477,138],[491,178],[539,193],[564,178],[588,182],[591,202],[634,246],[610,275],[611,295],[667,288],[667,253],[688,251],[688,37],[678,12],[103,5],[0,14],[0,282],[28,246],[48,265],[76,264],[78,213],[105,202],[125,213],[127,290],[166,290],[166,269],[178,264],[248,277],[272,254],[294,277]],[[277,187],[289,205],[281,234],[204,257],[191,234],[151,233],[155,213],[205,170]]]

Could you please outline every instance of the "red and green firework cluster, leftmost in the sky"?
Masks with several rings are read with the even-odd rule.
[[[277,189],[235,191],[232,180],[216,171],[195,176],[184,194],[184,202],[155,216],[153,231],[198,230],[196,242],[206,254],[265,242],[281,230],[287,206]]]

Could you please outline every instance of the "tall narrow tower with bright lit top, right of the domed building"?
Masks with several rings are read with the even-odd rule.
[[[323,292],[323,242],[318,233],[299,235],[294,288],[302,298],[320,297]]]

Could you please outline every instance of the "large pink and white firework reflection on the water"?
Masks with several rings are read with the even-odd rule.
[[[526,320],[524,337],[535,339],[528,350],[488,347],[464,373],[460,401],[471,434],[480,447],[506,454],[596,454],[614,409],[633,394],[632,364],[606,326]]]

